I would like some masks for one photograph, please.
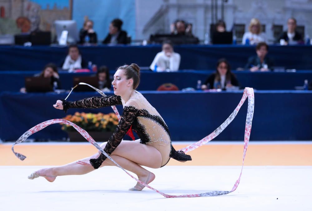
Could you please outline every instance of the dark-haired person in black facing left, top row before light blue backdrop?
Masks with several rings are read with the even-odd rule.
[[[123,22],[116,18],[110,23],[109,33],[103,44],[127,44],[127,32],[121,30]]]

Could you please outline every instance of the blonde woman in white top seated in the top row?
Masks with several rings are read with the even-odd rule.
[[[249,31],[243,35],[242,44],[248,44],[246,40],[249,40],[250,45],[256,45],[259,42],[265,42],[266,36],[261,32],[261,24],[257,18],[252,18],[248,27]]]

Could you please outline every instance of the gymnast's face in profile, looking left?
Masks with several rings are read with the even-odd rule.
[[[114,94],[119,96],[124,95],[129,89],[133,89],[132,83],[132,79],[127,79],[125,70],[118,69],[114,74],[114,80],[112,82]]]

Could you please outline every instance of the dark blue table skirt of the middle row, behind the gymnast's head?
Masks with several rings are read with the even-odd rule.
[[[141,82],[138,90],[156,90],[163,83],[173,83],[179,89],[186,87],[196,88],[197,80],[205,82],[214,71],[184,70],[170,73],[154,73],[149,70],[141,71]],[[258,90],[293,90],[295,86],[302,86],[304,80],[312,80],[311,70],[301,70],[295,73],[288,72],[247,72],[233,71],[241,87],[253,87]],[[0,71],[0,90],[17,92],[25,86],[25,77],[32,76],[38,71]],[[115,71],[111,71],[113,75]],[[94,73],[67,73],[60,72],[62,89],[71,89],[74,76],[88,76]]]

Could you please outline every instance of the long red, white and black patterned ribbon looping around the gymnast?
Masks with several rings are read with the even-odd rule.
[[[252,123],[252,118],[253,118],[253,113],[254,113],[254,105],[255,105],[255,101],[254,101],[254,92],[252,88],[245,88],[244,90],[244,94],[243,97],[241,98],[240,103],[238,104],[238,106],[235,108],[235,110],[233,111],[233,113],[227,118],[227,120],[225,122],[223,122],[220,127],[218,127],[215,131],[213,131],[211,134],[209,134],[208,136],[204,137],[202,140],[189,145],[183,149],[181,149],[180,151],[184,151],[184,152],[188,152],[188,151],[192,151],[196,148],[198,148],[199,146],[202,146],[203,144],[207,143],[208,141],[212,140],[213,138],[217,137],[217,135],[219,135],[231,122],[232,120],[235,118],[236,114],[238,113],[239,109],[241,108],[241,106],[243,105],[243,103],[245,102],[246,98],[248,97],[248,108],[247,108],[247,117],[246,117],[246,125],[245,125],[245,138],[244,138],[244,152],[243,152],[243,163],[242,163],[242,167],[241,167],[241,173],[238,177],[238,179],[236,180],[232,190],[230,191],[211,191],[211,192],[207,192],[207,193],[201,193],[201,194],[186,194],[186,195],[168,195],[165,194],[163,192],[160,192],[156,189],[154,189],[153,187],[145,184],[144,182],[136,179],[134,176],[132,176],[131,174],[129,174],[126,170],[124,170],[118,163],[116,163],[95,141],[94,139],[82,128],[78,127],[76,124],[69,122],[65,119],[52,119],[52,120],[48,120],[45,122],[42,122],[38,125],[36,125],[35,127],[32,127],[31,129],[29,129],[28,131],[26,131],[12,146],[12,151],[15,154],[15,156],[17,156],[17,158],[19,158],[20,160],[24,160],[26,158],[26,156],[17,153],[14,151],[14,145],[21,143],[23,141],[25,141],[27,139],[27,137],[29,137],[30,135],[32,135],[35,132],[38,132],[40,130],[42,130],[43,128],[47,127],[48,125],[51,124],[55,124],[55,123],[63,123],[63,124],[68,124],[73,126],[83,137],[85,137],[85,139],[87,141],[89,141],[91,144],[93,144],[99,151],[101,151],[108,159],[110,159],[112,162],[115,163],[116,166],[118,166],[119,168],[121,168],[122,170],[124,170],[124,172],[126,172],[129,176],[131,176],[134,180],[136,180],[137,182],[139,182],[140,184],[144,185],[145,187],[148,187],[149,189],[154,190],[155,192],[163,195],[166,198],[185,198],[185,197],[207,197],[207,196],[218,196],[218,195],[224,195],[224,194],[228,194],[231,193],[233,191],[236,190],[240,179],[241,179],[241,174],[242,174],[242,170],[243,170],[243,166],[244,166],[244,160],[245,160],[245,156],[246,156],[246,151],[247,151],[247,147],[248,147],[248,142],[249,142],[249,137],[250,137],[250,132],[251,132],[251,123]],[[78,161],[77,163],[79,163],[80,161]],[[87,163],[80,163],[82,165],[88,165]]]

